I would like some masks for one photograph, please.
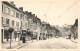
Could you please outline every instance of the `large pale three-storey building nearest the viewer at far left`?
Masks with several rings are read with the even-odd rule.
[[[20,30],[20,13],[21,11],[16,8],[14,2],[2,1],[2,42],[3,39],[9,39],[7,30],[10,27],[14,28],[14,31]],[[14,36],[13,32],[12,37],[14,38]]]

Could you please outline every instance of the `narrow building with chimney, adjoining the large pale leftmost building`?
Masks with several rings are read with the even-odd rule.
[[[23,7],[19,8],[22,12],[20,14],[20,22],[21,22],[21,30],[27,30],[28,28],[28,16],[26,15],[26,12],[23,12]]]

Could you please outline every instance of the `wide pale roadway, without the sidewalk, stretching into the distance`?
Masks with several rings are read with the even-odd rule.
[[[19,49],[76,49],[77,43],[65,38],[52,38],[47,40],[34,40]]]

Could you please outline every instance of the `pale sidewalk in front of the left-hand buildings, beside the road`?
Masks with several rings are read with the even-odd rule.
[[[12,41],[11,42],[11,49],[19,49],[25,45],[28,45],[29,43],[33,42],[32,40],[26,41],[25,43],[22,43],[22,41]],[[2,49],[10,49],[10,41],[2,43]]]

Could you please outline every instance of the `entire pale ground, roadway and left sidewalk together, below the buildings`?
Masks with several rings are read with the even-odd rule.
[[[10,49],[10,42],[3,43],[2,49]],[[77,43],[65,38],[50,38],[47,40],[12,41],[11,49],[77,49]]]

